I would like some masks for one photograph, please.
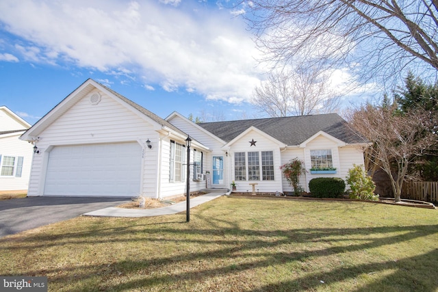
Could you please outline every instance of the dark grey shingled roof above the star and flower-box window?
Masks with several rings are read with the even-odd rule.
[[[324,131],[347,144],[366,142],[363,137],[352,131],[338,114],[203,122],[198,125],[226,142],[230,142],[251,126],[288,146],[299,145],[319,131]]]

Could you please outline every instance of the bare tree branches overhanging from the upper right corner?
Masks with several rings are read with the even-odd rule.
[[[348,66],[362,81],[373,77],[399,81],[409,68],[415,68],[417,76],[437,76],[436,0],[251,0],[243,4],[259,48],[274,64],[299,59],[326,68]]]

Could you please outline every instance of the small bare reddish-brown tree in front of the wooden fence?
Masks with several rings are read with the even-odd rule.
[[[396,202],[400,202],[403,181],[409,163],[437,142],[437,135],[428,131],[436,118],[430,111],[413,110],[396,114],[390,108],[365,105],[352,113],[350,125],[366,137],[372,145],[367,155],[386,172],[391,181]]]

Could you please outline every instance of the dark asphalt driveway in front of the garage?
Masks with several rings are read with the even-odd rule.
[[[0,237],[115,207],[130,198],[28,197],[0,200]]]

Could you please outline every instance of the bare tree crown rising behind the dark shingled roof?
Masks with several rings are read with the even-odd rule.
[[[329,76],[313,68],[271,72],[255,88],[253,103],[270,117],[303,116],[334,112],[339,96],[329,87]]]

